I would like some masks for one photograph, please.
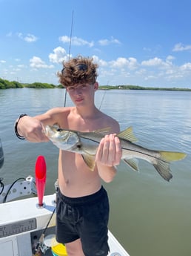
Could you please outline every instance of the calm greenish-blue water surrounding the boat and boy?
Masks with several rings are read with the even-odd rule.
[[[0,177],[5,184],[34,176],[36,157],[42,154],[47,161],[45,194],[54,192],[58,149],[51,142],[17,139],[13,126],[20,114],[41,114],[63,105],[64,90],[58,88],[0,90]],[[72,105],[69,97],[67,105]],[[111,232],[130,256],[191,256],[191,93],[97,91],[96,105],[117,119],[121,130],[133,126],[139,145],[187,153],[187,158],[171,164],[170,183],[143,160],[138,173],[119,165],[113,183],[104,184],[110,197]]]

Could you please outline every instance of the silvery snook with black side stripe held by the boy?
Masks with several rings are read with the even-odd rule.
[[[93,171],[98,144],[110,129],[104,128],[93,132],[81,132],[58,128],[56,125],[45,127],[46,136],[61,150],[81,154],[84,162]],[[116,135],[121,141],[122,157],[127,165],[138,171],[136,158],[151,163],[164,180],[170,181],[170,162],[184,159],[187,154],[171,151],[155,151],[136,145],[133,129],[127,128]]]

